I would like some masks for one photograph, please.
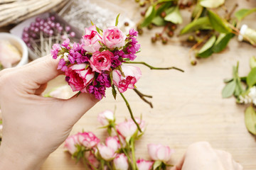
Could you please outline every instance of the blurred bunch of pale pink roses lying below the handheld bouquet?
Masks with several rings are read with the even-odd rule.
[[[118,170],[164,170],[168,166],[174,149],[160,144],[147,145],[150,161],[136,159],[135,141],[144,134],[145,122],[136,118],[142,132],[139,132],[133,120],[116,123],[112,111],[100,113],[97,120],[110,135],[100,142],[92,132],[78,132],[65,140],[64,147],[79,161],[83,160],[87,169]]]

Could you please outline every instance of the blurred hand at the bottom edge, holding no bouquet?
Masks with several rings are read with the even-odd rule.
[[[242,170],[230,153],[216,150],[208,142],[196,142],[188,147],[181,162],[171,170]]]

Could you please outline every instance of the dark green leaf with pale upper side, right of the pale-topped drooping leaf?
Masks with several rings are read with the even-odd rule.
[[[213,46],[213,52],[221,52],[222,50],[227,47],[228,42],[230,41],[231,38],[234,37],[233,33],[220,33],[218,36],[218,39],[216,40],[214,46]]]

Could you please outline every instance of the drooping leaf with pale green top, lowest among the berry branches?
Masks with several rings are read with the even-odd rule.
[[[206,58],[206,57],[209,57],[210,55],[212,55],[213,54],[212,47],[214,45],[215,40],[216,40],[215,35],[213,35],[211,38],[209,38],[209,40],[206,42],[206,44],[203,45],[203,47],[201,47],[201,50],[198,51],[197,56],[201,57],[201,58]]]

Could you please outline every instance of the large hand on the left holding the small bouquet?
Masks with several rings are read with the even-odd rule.
[[[39,169],[68,137],[73,125],[97,103],[91,94],[68,100],[41,96],[57,77],[58,61],[42,57],[0,72],[3,140],[0,169]]]

